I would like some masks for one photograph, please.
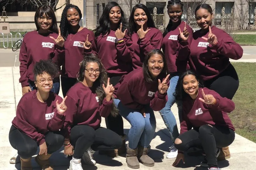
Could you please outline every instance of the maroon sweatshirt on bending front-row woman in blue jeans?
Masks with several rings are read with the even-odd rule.
[[[128,108],[141,110],[143,105],[150,104],[153,110],[159,111],[168,100],[167,93],[158,93],[158,79],[164,78],[159,76],[152,83],[147,83],[142,68],[138,68],[122,76],[115,86],[115,94]]]

